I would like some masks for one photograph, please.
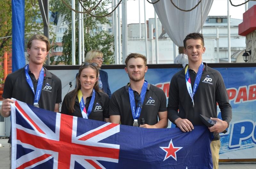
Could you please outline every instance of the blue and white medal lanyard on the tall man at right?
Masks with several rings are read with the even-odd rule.
[[[202,62],[201,65],[198,68],[198,72],[196,73],[196,80],[193,86],[193,91],[192,91],[192,87],[191,87],[191,81],[190,81],[190,77],[189,77],[189,71],[188,71],[188,65],[185,68],[185,78],[186,78],[186,85],[187,85],[187,89],[188,89],[188,94],[192,100],[192,106],[194,107],[194,95],[197,91],[202,73],[204,70],[204,63]]]

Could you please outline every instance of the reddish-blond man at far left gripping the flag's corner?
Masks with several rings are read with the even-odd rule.
[[[11,98],[59,112],[61,81],[43,67],[49,50],[50,42],[44,35],[33,35],[30,38],[28,41],[29,64],[6,77],[1,108],[3,117],[11,115],[11,103],[14,102]]]

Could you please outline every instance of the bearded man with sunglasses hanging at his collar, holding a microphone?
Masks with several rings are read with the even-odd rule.
[[[147,58],[131,53],[125,59],[128,85],[118,89],[109,103],[110,122],[142,128],[167,127],[166,97],[164,91],[145,81]],[[159,121],[157,119],[159,117]],[[141,124],[144,118],[145,124]]]

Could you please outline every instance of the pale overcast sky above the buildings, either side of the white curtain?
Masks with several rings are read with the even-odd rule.
[[[119,2],[119,1],[118,1]],[[244,0],[232,0],[232,3],[242,4]],[[121,5],[121,4],[120,4]],[[227,0],[214,0],[212,3],[212,8],[209,12],[211,16],[227,16]],[[230,5],[229,12],[231,18],[243,19],[243,13],[245,11],[245,6],[241,5],[234,7]],[[153,4],[149,4],[146,1],[146,18],[154,18],[154,7]],[[144,23],[144,0],[140,0],[140,22]],[[139,0],[128,0],[127,1],[127,23],[139,23]]]

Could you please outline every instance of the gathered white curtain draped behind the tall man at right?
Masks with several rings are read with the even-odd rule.
[[[151,1],[156,2],[156,0]],[[172,0],[176,6],[183,10],[192,9],[199,1],[200,0]],[[170,0],[160,0],[153,5],[168,36],[178,47],[183,47],[183,40],[189,33],[199,32],[201,30],[201,5],[202,24],[204,25],[212,2],[213,0],[202,0],[202,4],[199,4],[194,10],[189,12],[180,11],[173,6]],[[187,57],[187,55],[184,54],[178,56],[182,60]],[[176,58],[175,60],[179,61],[180,59]]]

